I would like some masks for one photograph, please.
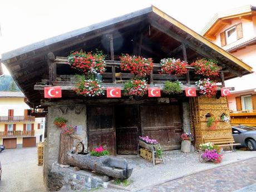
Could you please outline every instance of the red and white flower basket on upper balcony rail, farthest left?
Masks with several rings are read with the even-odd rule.
[[[75,51],[67,56],[68,63],[72,68],[83,73],[102,74],[106,70],[106,62],[104,61],[102,52],[96,53]]]

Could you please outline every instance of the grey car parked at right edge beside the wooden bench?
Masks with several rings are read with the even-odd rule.
[[[250,127],[232,127],[232,134],[236,143],[243,147],[248,147],[250,151],[256,150],[256,130]]]

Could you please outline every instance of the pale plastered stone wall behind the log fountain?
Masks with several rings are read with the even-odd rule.
[[[68,125],[77,126],[76,134],[81,137],[85,150],[87,150],[87,124],[86,124],[86,106],[50,106],[47,115],[47,137],[44,148],[44,180],[48,189],[51,189],[53,180],[60,180],[60,175],[52,173],[52,165],[58,162],[60,148],[61,129],[53,124],[56,117],[67,119]],[[74,140],[74,146],[78,140]],[[58,178],[58,179],[56,179]],[[55,182],[54,182],[55,183]],[[58,186],[58,185],[56,185]],[[61,187],[61,186],[60,186]]]

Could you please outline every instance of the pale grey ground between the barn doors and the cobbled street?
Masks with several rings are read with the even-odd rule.
[[[237,151],[225,152],[223,161],[220,164],[199,162],[198,152],[183,153],[180,150],[164,152],[165,164],[153,166],[152,163],[138,157],[136,155],[119,155],[125,157],[134,170],[129,181],[129,186],[119,186],[111,184],[107,189],[100,189],[99,191],[137,191],[149,186],[158,185],[167,181],[188,176],[190,174],[198,173],[208,169],[217,168],[219,166],[227,165],[237,161],[242,161],[250,157],[256,157],[256,151]],[[112,188],[119,189],[112,189]]]

